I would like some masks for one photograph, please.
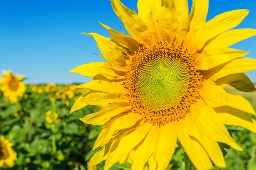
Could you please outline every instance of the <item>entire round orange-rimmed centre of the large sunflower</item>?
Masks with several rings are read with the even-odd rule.
[[[194,55],[182,45],[159,42],[141,48],[124,79],[132,111],[157,126],[184,118],[203,81],[193,64]]]

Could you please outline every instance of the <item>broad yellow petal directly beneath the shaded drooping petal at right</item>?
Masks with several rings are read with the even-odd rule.
[[[247,113],[256,114],[254,108],[247,99],[240,95],[231,95],[227,93],[222,87],[216,85],[210,79],[204,81],[200,90],[200,96],[204,99],[207,105],[213,108],[229,106]]]

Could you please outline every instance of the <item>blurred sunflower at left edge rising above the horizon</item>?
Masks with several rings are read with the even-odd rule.
[[[21,82],[25,77],[23,75],[13,75],[11,71],[3,70],[2,73],[2,78],[0,78],[0,90],[4,93],[4,99],[11,103],[16,103],[18,97],[22,97],[26,91],[25,84]]]

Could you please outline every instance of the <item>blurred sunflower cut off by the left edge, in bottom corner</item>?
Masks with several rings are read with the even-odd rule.
[[[17,153],[11,148],[13,144],[0,135],[0,167],[13,167]]]

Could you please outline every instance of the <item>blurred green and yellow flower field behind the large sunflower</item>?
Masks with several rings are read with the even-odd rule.
[[[103,170],[103,162],[87,167],[87,162],[99,150],[92,151],[92,148],[101,126],[84,124],[79,120],[97,112],[99,107],[86,106],[70,115],[76,99],[88,91],[75,86],[29,84],[25,93],[14,102],[8,101],[0,91],[0,136],[2,140],[8,140],[7,149],[13,150],[9,152],[12,155],[6,155],[6,148],[3,144],[0,146],[0,169]],[[227,88],[227,91],[243,95],[256,109],[256,92],[241,93],[233,88]],[[256,170],[256,134],[245,129],[233,132],[232,136],[245,151],[239,152],[220,144],[223,152],[227,152],[227,167],[230,170]],[[130,170],[129,159],[124,159],[110,170]],[[179,143],[168,166],[170,169],[184,170],[183,149]],[[144,170],[148,167],[145,166]]]

